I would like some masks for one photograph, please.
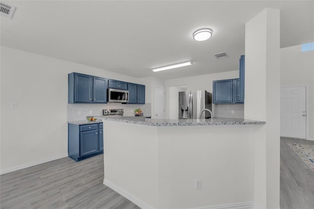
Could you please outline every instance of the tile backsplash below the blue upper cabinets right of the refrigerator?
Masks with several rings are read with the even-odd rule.
[[[213,109],[214,117],[244,118],[244,104],[213,104]]]

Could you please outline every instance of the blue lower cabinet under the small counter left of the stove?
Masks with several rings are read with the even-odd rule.
[[[103,123],[68,123],[68,155],[80,161],[104,153]]]

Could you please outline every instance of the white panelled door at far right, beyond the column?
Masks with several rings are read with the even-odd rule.
[[[306,139],[306,87],[282,87],[280,135]]]

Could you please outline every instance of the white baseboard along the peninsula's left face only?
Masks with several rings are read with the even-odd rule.
[[[152,207],[148,203],[146,203],[143,200],[139,199],[138,197],[132,195],[130,192],[124,190],[123,188],[116,186],[115,184],[113,184],[112,182],[110,182],[107,179],[104,179],[104,185],[108,186],[112,190],[118,192],[119,194],[121,194],[122,196],[124,196],[125,198],[130,200],[132,203],[134,203],[135,205],[140,207],[141,209],[154,209],[154,207]]]

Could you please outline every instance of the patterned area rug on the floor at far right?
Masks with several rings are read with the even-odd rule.
[[[288,146],[309,166],[314,172],[314,146],[306,144],[288,143]]]

